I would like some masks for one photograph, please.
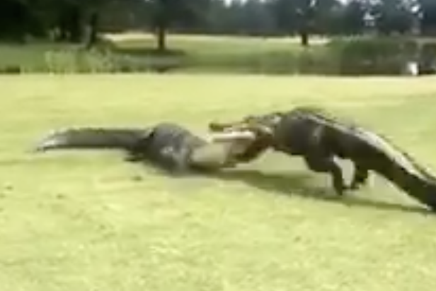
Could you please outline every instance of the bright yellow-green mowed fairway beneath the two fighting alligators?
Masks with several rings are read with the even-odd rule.
[[[212,119],[321,105],[436,173],[435,78],[1,77],[0,289],[435,290],[436,216],[372,177],[335,198],[300,158],[175,179],[120,153],[36,155],[64,126]]]

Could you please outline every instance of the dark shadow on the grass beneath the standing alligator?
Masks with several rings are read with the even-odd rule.
[[[377,208],[381,210],[406,211],[409,213],[432,214],[426,208],[419,206],[404,206],[387,203],[384,201],[371,201],[365,198],[353,196],[352,193],[338,197],[329,193],[328,189],[315,186],[309,174],[274,174],[256,170],[228,170],[212,176],[214,179],[224,181],[239,181],[258,189],[273,192],[275,194],[296,195],[304,198],[338,203],[345,206],[358,206]]]

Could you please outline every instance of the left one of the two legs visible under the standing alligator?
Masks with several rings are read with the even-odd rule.
[[[340,165],[335,162],[333,156],[305,155],[304,161],[306,162],[307,167],[314,172],[330,173],[333,182],[333,188],[338,195],[343,195],[343,192],[345,189],[347,189],[347,187],[345,186],[345,181],[343,179],[342,169],[340,168]]]

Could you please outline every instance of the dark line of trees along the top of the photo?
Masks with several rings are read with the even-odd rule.
[[[0,38],[96,40],[97,30],[226,35],[436,33],[436,0],[1,0]]]

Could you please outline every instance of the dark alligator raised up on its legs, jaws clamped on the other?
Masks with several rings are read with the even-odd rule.
[[[436,177],[387,138],[362,126],[340,120],[317,107],[297,107],[288,112],[210,124],[214,132],[254,128],[263,131],[265,141],[268,140],[265,136],[270,136],[272,149],[302,156],[310,170],[331,174],[339,195],[348,189],[359,189],[373,171],[436,211]],[[335,158],[354,164],[350,185],[345,185],[343,171]]]

